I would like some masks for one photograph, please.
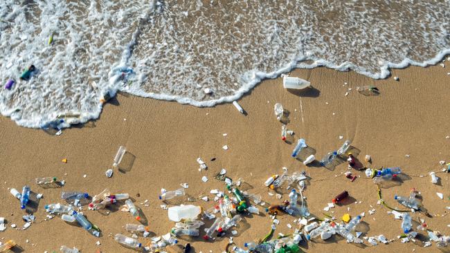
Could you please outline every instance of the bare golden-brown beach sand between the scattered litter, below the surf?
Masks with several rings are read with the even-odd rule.
[[[196,108],[118,95],[105,105],[98,120],[82,127],[64,129],[60,136],[18,127],[9,118],[1,118],[0,216],[8,221],[6,231],[0,232],[1,241],[13,239],[25,252],[59,252],[61,245],[75,246],[81,252],[96,252],[97,249],[101,252],[134,252],[114,241],[114,234],[130,235],[124,229],[126,223],[137,223],[131,214],[121,212],[117,206],[110,209],[109,215],[83,208],[89,221],[102,229],[102,236],[96,238],[81,227],[64,223],[59,217],[44,221],[44,205],[62,203],[61,191],[87,191],[95,195],[109,187],[114,193],[129,193],[136,199],[136,205],[141,207],[148,220],[152,236],[159,236],[170,232],[174,226],[168,219],[167,210],[160,207],[163,204],[158,199],[161,188],[177,189],[186,182],[190,196],[213,199],[210,189],[225,190],[224,182],[214,178],[225,168],[227,176],[244,180],[243,190],[260,194],[266,203],[281,203],[276,196],[269,196],[269,189],[263,183],[272,174],[281,174],[282,167],[287,167],[290,173],[305,170],[311,176],[304,194],[313,215],[323,218],[327,203],[336,194],[347,190],[354,202],[336,206],[326,213],[340,220],[345,213],[355,216],[365,212],[363,227],[368,230],[367,236],[384,234],[388,239],[397,239],[402,232],[401,221],[388,215],[389,209],[377,205],[377,187],[366,179],[363,171],[352,170],[360,177],[350,182],[343,176],[347,171],[346,164],[330,171],[323,167],[305,167],[291,158],[294,144],[281,140],[281,124],[273,113],[276,102],[282,103],[290,112],[287,128],[294,130],[295,135],[288,140],[305,138],[309,147],[316,149],[317,159],[350,139],[352,146],[361,151],[360,160],[363,161],[366,154],[372,156],[372,168],[402,167],[409,178],[401,186],[382,189],[388,205],[402,208],[393,196],[408,196],[409,190],[415,187],[422,193],[423,205],[432,218],[415,213],[413,219],[424,218],[431,229],[448,235],[450,218],[442,215],[449,212],[448,209],[446,212],[450,205],[449,174],[438,174],[440,185],[433,185],[428,176],[429,171],[442,169],[440,160],[450,162],[450,139],[446,138],[450,135],[450,77],[447,72],[448,68],[440,66],[393,70],[393,76],[399,77],[397,82],[393,77],[374,80],[352,71],[296,70],[290,75],[308,79],[314,87],[312,91],[299,96],[282,88],[280,78],[266,80],[239,100],[248,115],[240,114],[232,104]],[[344,85],[345,82],[348,85]],[[378,86],[380,95],[361,95],[356,87],[362,85]],[[352,90],[345,96],[349,88]],[[228,150],[222,149],[225,144]],[[111,167],[120,145],[135,157],[132,169],[125,173],[114,171],[112,178],[106,178],[105,171]],[[207,171],[198,170],[198,157],[208,165]],[[62,162],[63,158],[68,162]],[[210,161],[211,158],[216,159]],[[35,185],[34,179],[44,176],[56,176],[64,179],[66,184],[59,189],[42,189]],[[202,176],[207,176],[208,182],[202,182]],[[8,189],[15,187],[21,191],[24,185],[44,194],[44,198],[37,209],[31,209],[37,217],[36,222],[22,231],[10,227],[12,223],[22,227],[21,216],[25,212]],[[443,193],[444,200],[438,198],[436,192]],[[282,199],[287,199],[287,194]],[[145,200],[150,206],[141,204]],[[186,198],[180,198],[168,205],[180,203],[188,202]],[[198,200],[190,204],[207,209],[213,206],[213,201]],[[375,209],[375,214],[370,215],[370,209]],[[294,231],[293,217],[283,215],[278,218],[280,225],[276,234]],[[207,226],[211,224],[211,221],[205,222]],[[260,216],[245,216],[236,228],[238,234],[233,236],[233,241],[243,247],[244,242],[264,237],[271,223],[265,212]],[[287,227],[288,223],[292,229]],[[142,236],[139,240],[143,244],[150,241]],[[96,245],[97,241],[101,245]],[[201,237],[190,241],[195,252],[222,252],[228,237],[217,238],[214,243],[204,242]],[[185,243],[180,240],[179,244]],[[367,241],[364,245],[354,245],[345,243],[337,235],[326,242],[303,243],[302,247],[307,252],[439,252],[434,243],[427,248],[398,240],[388,245],[371,246]]]

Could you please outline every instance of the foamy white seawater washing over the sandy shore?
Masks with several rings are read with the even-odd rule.
[[[385,78],[436,64],[449,31],[448,0],[2,0],[0,112],[69,127],[118,91],[214,106],[293,68]]]

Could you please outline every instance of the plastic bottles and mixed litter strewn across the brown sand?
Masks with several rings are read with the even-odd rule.
[[[292,77],[289,77],[292,78]],[[309,83],[302,83],[296,79],[286,79],[286,86],[289,88],[296,88],[298,86],[309,86]],[[373,90],[373,88],[363,87],[365,89]],[[245,113],[239,104],[233,103],[236,108]],[[275,104],[274,112],[276,119],[282,124],[281,137],[283,141],[294,139],[294,131],[289,131],[287,129],[287,124],[289,120],[287,119],[287,113],[285,109],[279,103]],[[343,137],[341,136],[341,139]],[[395,195],[391,198],[382,198],[381,189],[388,188],[391,186],[399,185],[402,183],[402,177],[406,176],[404,171],[400,167],[381,167],[379,169],[371,168],[372,157],[366,155],[364,158],[365,163],[359,161],[356,148],[352,147],[352,142],[350,140],[345,140],[339,149],[327,152],[321,160],[316,160],[315,150],[309,147],[304,138],[298,138],[295,142],[294,149],[291,153],[291,158],[300,160],[307,167],[325,167],[326,169],[333,170],[334,167],[342,163],[347,162],[348,171],[342,173],[345,178],[348,178],[350,182],[354,182],[357,178],[360,178],[359,173],[366,176],[366,179],[372,180],[375,183],[377,189],[377,197],[379,199],[378,204],[386,207],[388,209],[388,215],[393,214],[395,219],[401,220],[399,223],[399,233],[397,237],[402,243],[407,243],[412,241],[417,245],[422,245],[423,247],[429,247],[435,243],[436,247],[448,249],[450,247],[450,236],[445,236],[440,232],[433,231],[428,227],[424,219],[415,217],[416,213],[425,214],[429,216],[426,209],[421,203],[422,196],[416,189],[411,189],[409,196]],[[228,146],[223,147],[225,150]],[[114,169],[121,169],[122,162],[127,150],[125,147],[120,146],[116,156],[114,157],[114,162],[112,169],[106,171],[106,176],[110,178],[113,176]],[[211,160],[213,161],[213,160]],[[66,162],[66,160],[64,161]],[[199,164],[199,171],[208,170],[206,162],[201,158],[197,158]],[[440,162],[441,165],[445,165],[444,161]],[[447,168],[442,169],[442,171],[431,172],[429,174],[431,182],[433,184],[438,184],[440,182],[440,177],[436,174],[438,173],[448,173],[450,171],[450,164],[446,165]],[[126,236],[124,234],[115,234],[114,240],[127,248],[143,251],[143,252],[164,252],[166,247],[172,245],[177,245],[179,243],[179,238],[186,237],[200,237],[204,241],[209,241],[214,243],[215,241],[221,240],[221,238],[228,237],[228,245],[226,252],[260,252],[260,253],[282,253],[282,252],[302,252],[301,247],[307,243],[317,243],[318,241],[327,241],[333,236],[336,238],[343,238],[347,243],[357,243],[375,246],[378,243],[392,243],[395,238],[388,239],[384,235],[378,236],[367,236],[367,229],[361,229],[361,221],[366,216],[366,213],[350,215],[345,213],[341,221],[334,217],[332,214],[334,212],[331,209],[342,206],[345,202],[353,201],[350,200],[351,196],[348,191],[342,191],[332,198],[330,196],[331,202],[327,203],[323,211],[331,212],[312,214],[307,205],[307,198],[304,196],[307,189],[307,185],[314,183],[314,178],[307,175],[306,171],[289,171],[286,167],[282,168],[281,173],[267,175],[268,178],[264,182],[265,187],[267,187],[267,193],[269,196],[276,196],[279,203],[266,203],[262,200],[262,196],[258,194],[252,194],[248,191],[241,191],[240,186],[242,185],[242,178],[238,180],[233,180],[226,176],[226,169],[222,169],[215,179],[218,180],[222,185],[222,190],[211,189],[210,194],[214,195],[213,205],[208,209],[203,209],[197,205],[172,205],[167,207],[168,200],[184,200],[186,199],[188,184],[182,183],[181,188],[167,191],[161,189],[161,194],[159,195],[159,201],[165,203],[161,205],[163,209],[167,209],[168,219],[173,222],[173,226],[170,232],[163,234],[161,236],[153,236],[150,238],[150,226],[145,224],[145,216],[141,212],[130,198],[129,194],[120,193],[112,194],[109,189],[104,189],[99,194],[90,196],[86,192],[79,191],[62,191],[61,198],[65,200],[67,205],[61,203],[51,203],[45,205],[46,212],[48,213],[47,218],[50,220],[55,216],[60,216],[62,221],[66,223],[78,223],[80,227],[85,229],[87,232],[93,236],[100,236],[101,230],[97,225],[91,223],[86,216],[83,214],[83,205],[87,205],[88,211],[90,212],[104,212],[107,207],[112,205],[122,206],[121,210],[124,212],[129,212],[133,218],[139,222],[127,223],[125,224],[125,231],[132,234],[132,236]],[[337,176],[335,176],[337,177]],[[206,176],[202,179],[204,182],[208,181]],[[323,180],[323,179],[322,179]],[[46,178],[36,178],[36,185],[46,188],[55,188],[64,186],[64,180],[58,181],[54,177]],[[359,182],[359,181],[356,181]],[[374,193],[375,193],[374,186]],[[24,186],[22,191],[19,192],[17,189],[10,189],[10,194],[20,201],[21,209],[26,209],[30,203],[30,196],[32,191],[30,187]],[[35,194],[37,199],[42,198],[42,194]],[[443,194],[439,194],[440,198],[443,198]],[[208,196],[200,198],[208,203]],[[188,202],[195,201],[197,199],[191,200],[188,198]],[[399,205],[402,205],[402,209],[397,209],[391,207],[391,202],[397,200]],[[147,200],[145,201],[147,203]],[[361,201],[359,202],[361,203]],[[147,204],[146,204],[147,205]],[[148,205],[147,205],[148,206]],[[260,208],[262,208],[260,210]],[[370,205],[370,210],[368,210],[369,215],[375,214],[375,208]],[[447,207],[448,209],[449,207]],[[348,208],[350,211],[350,208]],[[269,218],[271,218],[272,225],[270,227],[270,232],[264,238],[258,241],[249,241],[244,243],[244,245],[236,245],[233,242],[233,236],[240,233],[240,227],[242,226],[243,220],[251,218],[252,215],[260,215],[261,213],[266,213]],[[108,214],[108,212],[106,212]],[[294,228],[291,224],[287,224],[289,229],[294,228],[291,234],[278,234],[275,236],[275,231],[277,225],[280,221],[278,216],[282,214],[287,214],[291,216],[294,220],[293,223],[296,225]],[[35,216],[33,214],[28,214],[23,217],[26,224],[23,229],[30,227],[35,221]],[[419,221],[419,222],[417,222]],[[419,225],[413,225],[418,223]],[[210,225],[206,225],[210,223]],[[15,224],[14,227],[16,226]],[[13,227],[11,225],[11,227]],[[366,223],[367,225],[367,223]],[[13,227],[13,228],[14,228]],[[6,229],[5,218],[0,217],[0,231]],[[421,235],[421,236],[419,236]],[[141,239],[139,238],[142,236]],[[145,240],[145,241],[143,241]],[[6,250],[15,247],[15,241],[7,241],[0,245],[0,252],[5,252]],[[98,241],[100,245],[100,241]],[[191,246],[188,243],[183,247],[183,252],[190,252]],[[79,252],[76,247],[67,247],[62,245],[60,247],[60,252]]]

